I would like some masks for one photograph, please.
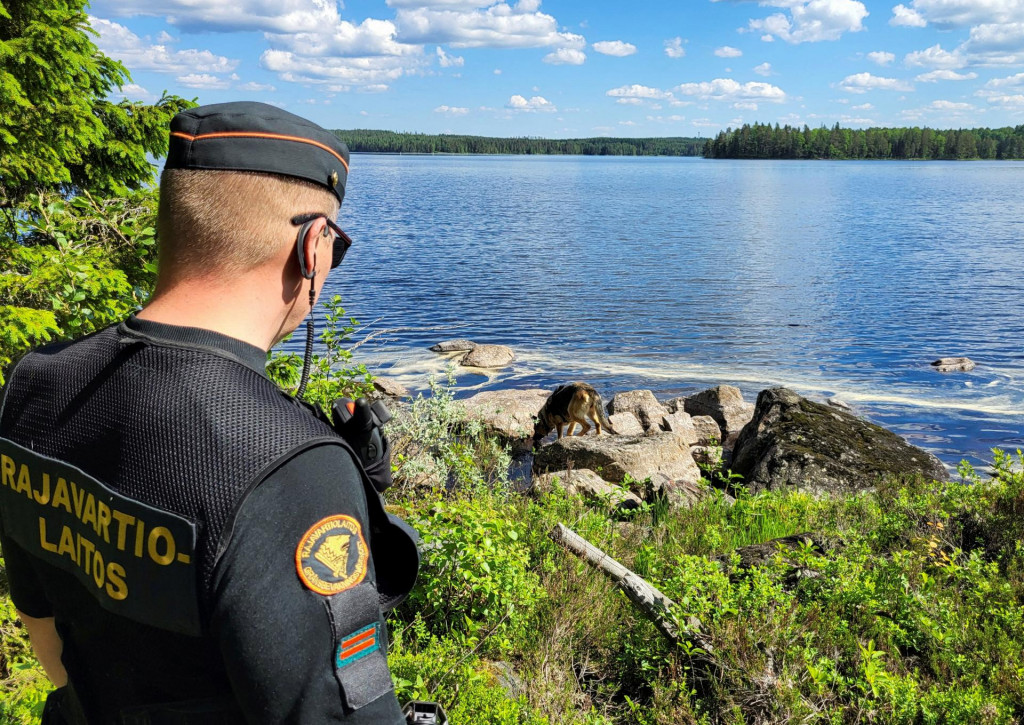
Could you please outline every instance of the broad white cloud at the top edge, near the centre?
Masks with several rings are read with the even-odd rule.
[[[558,32],[554,17],[530,11],[536,3],[515,6],[500,2],[418,1],[406,9],[406,2],[391,2],[400,9],[395,15],[398,39],[406,43],[445,43],[455,48],[543,48],[582,49],[581,35]],[[489,7],[481,8],[481,5]]]

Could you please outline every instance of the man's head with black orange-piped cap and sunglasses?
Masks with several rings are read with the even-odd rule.
[[[178,114],[161,179],[161,284],[245,273],[287,259],[288,250],[298,259],[293,220],[333,220],[347,175],[344,143],[272,105],[218,103]]]

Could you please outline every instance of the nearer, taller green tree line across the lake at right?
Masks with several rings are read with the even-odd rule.
[[[1024,159],[1024,125],[942,131],[743,124],[709,139],[703,155],[709,159]]]

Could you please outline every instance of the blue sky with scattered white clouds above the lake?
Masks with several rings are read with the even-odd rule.
[[[92,0],[118,94],[326,128],[709,136],[1024,123],[1024,0]]]

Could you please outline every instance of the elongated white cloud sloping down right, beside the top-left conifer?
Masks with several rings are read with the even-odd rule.
[[[117,23],[100,17],[90,17],[89,24],[96,31],[96,46],[105,54],[121,60],[130,71],[157,71],[158,73],[229,73],[238,60],[216,55],[209,50],[173,50],[166,45],[151,45]]]

